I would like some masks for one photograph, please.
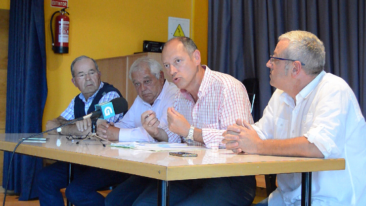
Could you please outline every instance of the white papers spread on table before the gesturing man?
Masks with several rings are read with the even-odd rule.
[[[183,151],[183,150],[205,150],[204,147],[198,146],[188,146],[184,143],[167,143],[167,142],[158,142],[158,143],[150,143],[150,142],[119,142],[112,143],[111,147],[120,147],[120,148],[130,148],[137,150],[148,150],[155,152],[163,152],[163,151]]]

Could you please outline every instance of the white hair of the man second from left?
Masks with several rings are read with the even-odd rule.
[[[132,73],[134,73],[135,71],[141,69],[141,66],[143,64],[146,64],[149,69],[150,69],[150,73],[152,75],[154,75],[156,77],[156,79],[160,78],[160,71],[163,70],[163,67],[160,65],[159,62],[157,62],[155,59],[147,57],[147,56],[143,56],[138,58],[132,65],[130,68],[130,73],[129,73],[129,77],[130,80],[132,81]]]

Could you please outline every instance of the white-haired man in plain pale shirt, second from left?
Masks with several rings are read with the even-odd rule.
[[[131,65],[129,77],[138,95],[135,102],[119,122],[99,125],[97,134],[119,142],[168,139],[167,110],[173,106],[178,88],[164,78],[162,66],[149,57],[138,58]],[[149,178],[131,176],[107,195],[105,205],[132,205],[151,181]]]

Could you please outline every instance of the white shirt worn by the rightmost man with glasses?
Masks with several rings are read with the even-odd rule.
[[[366,123],[341,78],[322,71],[294,100],[276,90],[254,125],[261,139],[305,136],[325,158],[344,158],[345,170],[312,172],[312,206],[365,206]],[[269,206],[301,205],[301,173],[278,174]]]

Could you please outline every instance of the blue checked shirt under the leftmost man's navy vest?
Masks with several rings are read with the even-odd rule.
[[[65,111],[63,111],[61,113],[61,116],[63,118],[65,118],[66,120],[72,120],[75,119],[75,114],[74,114],[74,105],[75,105],[75,98],[80,98],[84,103],[85,103],[85,113],[87,114],[90,105],[92,104],[96,94],[98,93],[98,91],[100,90],[100,88],[103,87],[103,82],[100,82],[100,86],[99,89],[88,99],[88,101],[85,99],[83,93],[80,93],[80,95],[74,97],[74,99],[72,99],[71,103],[69,104],[69,106],[65,109]],[[108,92],[107,94],[105,94],[100,100],[99,103],[103,103],[103,102],[109,102],[115,98],[119,98],[119,94],[117,92]],[[116,114],[115,116],[106,119],[106,121],[108,122],[118,122],[120,119],[122,119],[123,113],[120,114]]]

